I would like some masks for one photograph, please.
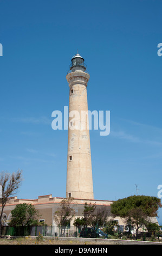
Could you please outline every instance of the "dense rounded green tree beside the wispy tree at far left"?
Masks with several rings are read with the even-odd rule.
[[[15,209],[11,211],[11,226],[32,226],[38,225],[38,210],[32,204],[17,204]]]

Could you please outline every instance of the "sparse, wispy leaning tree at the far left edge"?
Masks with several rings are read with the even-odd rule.
[[[16,173],[2,172],[0,173],[0,186],[2,188],[2,197],[0,198],[1,214],[0,214],[0,235],[1,235],[1,220],[4,211],[4,207],[8,202],[8,198],[13,196],[22,183],[22,170],[18,170]]]

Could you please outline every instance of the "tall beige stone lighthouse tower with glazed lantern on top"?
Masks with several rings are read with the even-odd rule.
[[[92,163],[88,115],[89,74],[80,54],[72,58],[66,76],[69,83],[69,128],[66,197],[93,199]],[[86,118],[85,118],[86,117]]]

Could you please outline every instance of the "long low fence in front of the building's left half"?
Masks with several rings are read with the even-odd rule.
[[[38,236],[41,233],[43,236],[70,236],[79,237],[79,233],[75,227],[56,227],[56,226],[35,226],[35,227],[10,227],[2,228],[2,235],[11,236]]]

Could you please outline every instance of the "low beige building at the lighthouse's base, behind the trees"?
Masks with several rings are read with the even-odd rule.
[[[51,194],[46,196],[39,196],[37,199],[18,199],[17,197],[10,197],[8,203],[5,205],[4,212],[3,212],[3,224],[8,225],[11,220],[11,211],[16,207],[17,204],[28,203],[35,206],[35,209],[39,211],[40,217],[38,221],[44,222],[47,225],[56,225],[54,222],[54,215],[55,212],[60,208],[61,201],[65,198],[61,197],[53,197]],[[111,218],[111,204],[112,201],[107,200],[87,200],[87,199],[77,199],[73,200],[71,207],[75,210],[75,215],[73,220],[71,221],[70,225],[73,227],[73,222],[75,218],[83,217],[83,210],[85,203],[95,204],[97,208],[105,207],[108,212],[108,218]],[[1,211],[1,207],[0,207]],[[120,224],[122,223],[119,218],[115,218],[118,220]]]

